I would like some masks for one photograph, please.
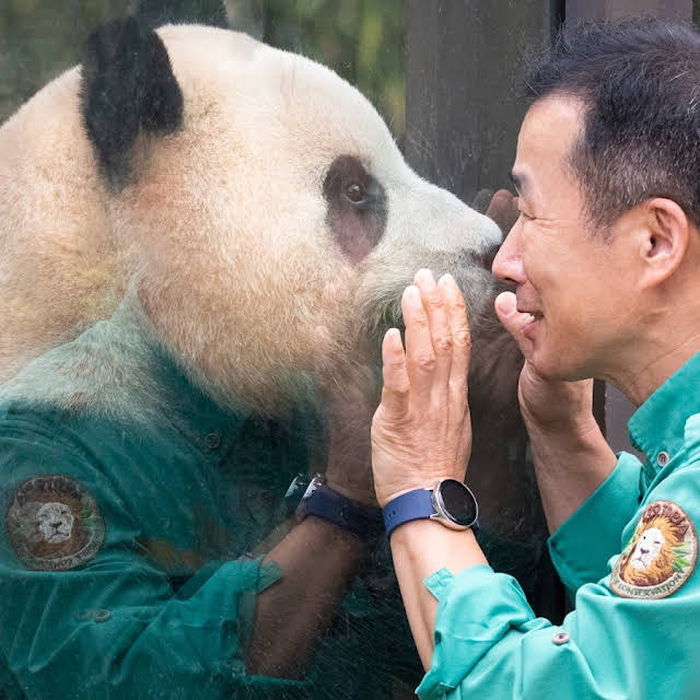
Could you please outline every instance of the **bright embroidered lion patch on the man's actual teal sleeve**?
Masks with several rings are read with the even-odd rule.
[[[677,591],[695,569],[695,527],[672,501],[654,501],[610,577],[610,586],[625,598],[665,598]]]

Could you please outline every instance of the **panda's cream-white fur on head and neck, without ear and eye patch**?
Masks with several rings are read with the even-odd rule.
[[[210,393],[271,412],[309,376],[337,378],[417,268],[444,272],[500,241],[489,219],[406,165],[332,71],[230,31],[158,33],[184,128],[139,138],[137,177],[118,196],[81,127],[79,69],[0,129],[0,379],[109,316],[129,287]],[[326,222],[321,185],[341,154],[387,195],[384,236],[360,265]],[[466,278],[479,311],[491,282]]]

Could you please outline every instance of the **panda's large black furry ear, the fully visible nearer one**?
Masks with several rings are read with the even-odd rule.
[[[128,182],[139,132],[168,134],[182,123],[182,91],[168,52],[153,29],[133,17],[88,38],[81,100],[100,169],[116,189]]]

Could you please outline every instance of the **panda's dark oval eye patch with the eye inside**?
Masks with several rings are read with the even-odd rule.
[[[386,227],[386,193],[355,156],[338,156],[326,172],[323,196],[333,238],[353,262],[363,260]]]

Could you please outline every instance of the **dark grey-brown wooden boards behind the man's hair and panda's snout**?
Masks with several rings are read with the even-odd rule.
[[[524,59],[564,21],[651,15],[692,19],[691,0],[406,0],[411,164],[471,201],[509,187]]]

